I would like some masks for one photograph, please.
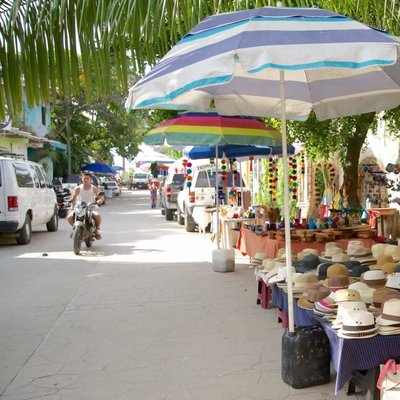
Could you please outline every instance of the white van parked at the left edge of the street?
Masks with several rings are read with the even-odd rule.
[[[58,229],[57,197],[42,165],[0,153],[0,233],[28,244],[32,226],[41,224],[49,232]]]

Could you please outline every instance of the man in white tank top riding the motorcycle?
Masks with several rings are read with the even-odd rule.
[[[71,198],[71,208],[67,216],[69,224],[72,226],[74,224],[74,204],[76,201],[84,201],[86,204],[96,202],[96,197],[100,190],[97,186],[92,185],[91,174],[89,172],[84,172],[82,174],[82,184],[77,186],[72,194]],[[93,219],[95,222],[94,235],[97,240],[101,239],[100,235],[100,224],[101,216],[97,211],[92,211]]]

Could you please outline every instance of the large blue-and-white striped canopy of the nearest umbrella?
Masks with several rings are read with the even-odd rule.
[[[400,104],[397,38],[320,9],[262,7],[209,17],[131,88],[127,108],[320,120]]]

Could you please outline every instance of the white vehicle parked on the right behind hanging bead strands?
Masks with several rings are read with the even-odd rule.
[[[192,163],[191,187],[183,183],[183,189],[178,194],[177,199],[177,221],[179,225],[185,225],[187,232],[194,232],[196,229],[196,221],[193,218],[195,207],[213,208],[215,207],[215,183],[216,174],[212,172],[212,167],[209,160],[190,160]],[[226,175],[227,180],[224,185],[226,188],[236,186],[240,189],[240,181],[235,182],[233,173],[229,172]],[[221,176],[219,175],[219,178]],[[220,184],[221,186],[221,184]],[[243,191],[247,191],[244,182],[242,181]],[[240,191],[240,190],[238,190]],[[221,199],[222,204],[226,204],[227,194],[224,194],[224,199]]]

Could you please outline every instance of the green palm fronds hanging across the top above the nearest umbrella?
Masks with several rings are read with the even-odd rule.
[[[397,0],[284,0],[330,9],[399,34]],[[93,101],[128,86],[206,16],[274,6],[270,0],[41,0],[0,4],[0,119],[76,96]],[[115,83],[111,77],[116,77]]]

